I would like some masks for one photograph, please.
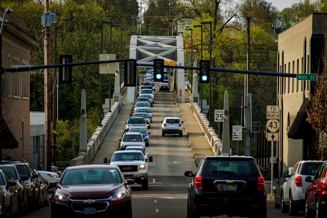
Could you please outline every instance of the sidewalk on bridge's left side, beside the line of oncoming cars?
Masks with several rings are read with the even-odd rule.
[[[125,130],[124,121],[127,121],[129,118],[133,105],[134,103],[127,103],[127,90],[125,90],[125,92],[123,92],[122,108],[102,140],[102,143],[92,160],[92,164],[102,164],[104,157],[108,158],[108,160],[111,159],[113,152],[118,149],[119,139],[121,139]]]

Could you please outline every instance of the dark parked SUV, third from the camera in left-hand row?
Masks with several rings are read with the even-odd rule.
[[[16,165],[22,176],[27,176],[27,179],[24,181],[24,184],[27,189],[28,210],[34,211],[35,209],[40,209],[41,182],[39,179],[39,175],[34,171],[32,165],[28,162],[15,160],[9,160],[8,162],[6,162],[6,160],[3,160],[2,164],[14,164]]]

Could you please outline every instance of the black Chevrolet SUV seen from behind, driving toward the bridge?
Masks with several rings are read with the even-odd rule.
[[[188,186],[187,217],[267,217],[267,190],[252,157],[205,156]]]

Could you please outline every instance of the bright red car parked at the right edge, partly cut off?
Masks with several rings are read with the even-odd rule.
[[[310,176],[305,178],[306,182],[311,182],[305,193],[305,217],[325,217],[327,203],[327,162],[318,168],[315,176],[311,180]]]

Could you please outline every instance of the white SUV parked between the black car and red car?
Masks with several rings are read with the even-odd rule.
[[[305,209],[305,192],[310,182],[305,178],[315,176],[319,166],[325,161],[321,160],[300,160],[293,168],[291,175],[283,173],[282,176],[289,177],[283,185],[281,195],[281,210],[290,215],[296,215],[298,211]]]

